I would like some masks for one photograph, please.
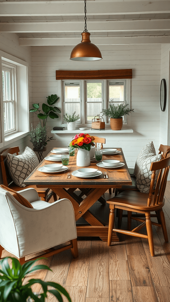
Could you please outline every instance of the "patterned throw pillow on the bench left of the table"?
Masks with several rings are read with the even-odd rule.
[[[21,155],[7,155],[8,170],[13,182],[19,187],[25,187],[25,178],[38,166],[39,161],[32,149],[26,147]]]

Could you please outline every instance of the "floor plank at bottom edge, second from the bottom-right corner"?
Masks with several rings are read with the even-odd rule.
[[[129,280],[110,280],[110,302],[133,302]]]

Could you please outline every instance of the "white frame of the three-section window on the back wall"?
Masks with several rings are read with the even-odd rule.
[[[75,81],[75,82],[82,82],[82,89],[81,89],[81,104],[82,104],[82,123],[79,121],[76,121],[76,124],[78,127],[89,127],[91,124],[91,121],[86,122],[85,120],[85,106],[86,106],[86,97],[87,97],[87,91],[86,91],[86,82],[103,82],[103,108],[106,109],[107,105],[109,103],[109,82],[126,82],[126,100],[125,104],[129,104],[129,108],[131,108],[131,79],[96,79],[96,80],[58,80],[58,85],[60,87],[61,91],[61,112],[62,112],[62,117],[61,117],[61,124],[62,126],[67,126],[66,123],[63,121],[63,104],[64,104],[64,94],[63,94],[63,83],[68,82],[68,81]],[[83,99],[84,98],[84,99]],[[83,101],[82,101],[83,99]],[[83,104],[84,103],[84,104]],[[108,121],[106,116],[103,116],[103,119],[105,121],[105,127],[110,128],[110,121]],[[125,121],[123,122],[123,127],[130,127],[131,126],[131,118],[130,115],[126,115]]]

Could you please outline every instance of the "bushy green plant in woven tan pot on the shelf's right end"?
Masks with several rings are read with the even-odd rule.
[[[115,104],[110,103],[108,109],[102,109],[100,113],[102,115],[107,116],[110,118],[110,127],[112,130],[121,130],[123,125],[123,116],[130,112],[134,112],[134,109],[128,108],[129,104]]]

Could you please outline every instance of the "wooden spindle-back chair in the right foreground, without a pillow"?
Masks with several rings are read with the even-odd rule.
[[[153,244],[152,224],[162,227],[165,242],[168,242],[165,217],[162,207],[164,206],[165,203],[164,192],[165,192],[166,182],[169,172],[169,165],[170,165],[170,154],[168,154],[165,159],[161,159],[158,162],[152,162],[150,167],[150,170],[152,171],[152,177],[151,177],[151,184],[148,194],[129,190],[129,191],[124,191],[119,195],[117,195],[115,198],[111,198],[107,201],[110,207],[108,246],[111,245],[112,231],[123,233],[126,235],[147,238],[149,241],[149,249],[150,249],[151,256],[154,256],[155,252],[154,252],[154,244]],[[156,182],[155,192],[153,194],[155,172],[157,170],[160,171]],[[131,223],[131,219],[140,221],[142,223],[132,231],[114,229],[113,225],[114,225],[115,208],[127,210],[128,213],[134,211],[140,214],[145,214],[145,219],[132,217],[131,214],[129,214],[130,223]],[[151,221],[150,212],[153,211],[158,211],[161,223],[155,223]],[[145,225],[146,225],[147,235],[137,233]]]

